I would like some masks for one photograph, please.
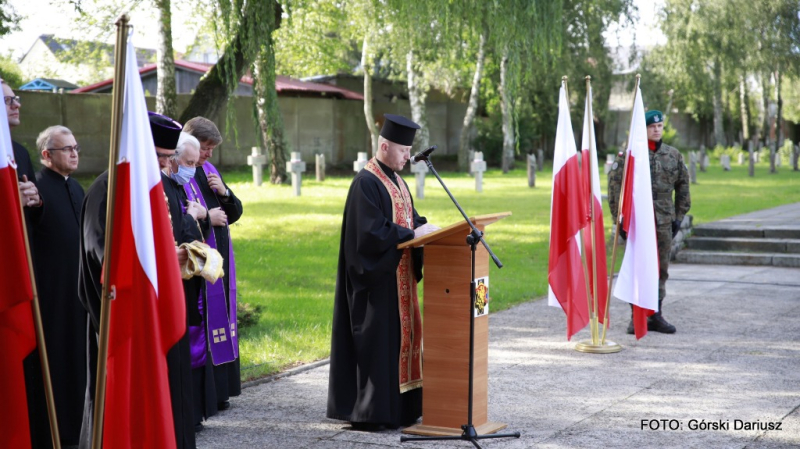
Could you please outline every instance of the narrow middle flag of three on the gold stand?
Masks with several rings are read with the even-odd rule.
[[[594,215],[594,244],[592,244],[591,220],[583,229],[583,243],[586,248],[586,266],[589,272],[589,290],[594,292],[597,282],[597,317],[605,323],[606,300],[608,297],[608,270],[606,269],[606,237],[603,228],[603,200],[600,197],[600,172],[597,164],[597,146],[595,145],[594,121],[592,120],[592,88],[586,93],[586,106],[583,113],[583,144],[581,148],[581,169],[587,214]],[[596,256],[596,262],[595,262]],[[596,263],[596,265],[595,265]],[[594,278],[595,269],[597,279]],[[594,297],[594,296],[591,296]]]

